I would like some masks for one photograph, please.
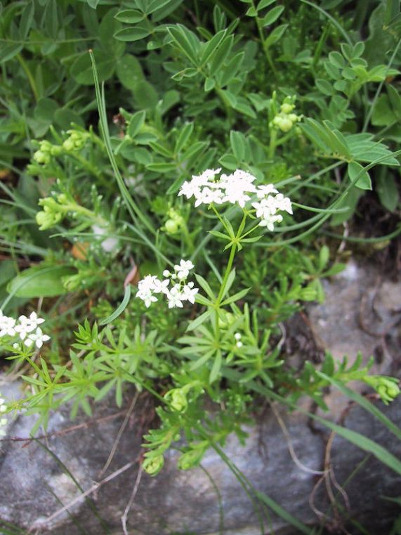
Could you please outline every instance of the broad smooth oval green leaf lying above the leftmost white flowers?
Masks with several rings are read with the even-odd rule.
[[[77,271],[68,266],[32,267],[21,271],[7,285],[7,291],[17,297],[53,297],[67,293],[63,277]]]

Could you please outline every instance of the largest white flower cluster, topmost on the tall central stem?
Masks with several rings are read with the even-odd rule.
[[[221,174],[216,180],[216,175],[221,169],[206,169],[199,176],[192,176],[188,182],[181,186],[178,195],[185,195],[187,199],[195,197],[195,207],[211,202],[217,205],[223,202],[237,202],[244,208],[247,201],[251,200],[249,194],[255,194],[259,202],[253,202],[256,217],[261,219],[260,226],[266,226],[269,231],[274,230],[274,224],[282,221],[282,216],[277,212],[284,211],[292,214],[291,201],[279,193],[272,184],[256,186],[256,176],[249,172],[237,169],[232,174]]]

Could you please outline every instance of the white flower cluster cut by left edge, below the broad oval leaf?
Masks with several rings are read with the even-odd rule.
[[[39,325],[44,322],[44,318],[39,318],[36,312],[32,312],[29,318],[20,316],[18,320],[4,316],[0,310],[0,338],[4,336],[18,336],[27,347],[35,345],[40,349],[43,342],[50,340],[50,336],[44,335]],[[15,347],[18,343],[15,342]]]

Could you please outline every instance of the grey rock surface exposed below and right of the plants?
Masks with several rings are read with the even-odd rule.
[[[377,337],[360,329],[360,299],[366,289],[374,289],[375,272],[368,271],[359,266],[348,267],[348,273],[346,271],[345,275],[327,283],[327,302],[312,307],[309,317],[320,342],[338,357],[345,353],[352,356],[359,349],[368,356],[384,340],[391,358],[386,355],[378,366],[382,373],[383,370],[389,373],[392,363],[400,358],[397,355],[397,332],[389,330],[388,335]],[[383,321],[376,321],[374,328],[384,331],[396,319],[391,310],[400,302],[400,287],[386,282],[375,292],[373,314],[381,314]],[[372,316],[367,317],[372,321]],[[1,392],[4,397],[18,395],[15,384],[2,386]],[[127,399],[127,406],[129,402]],[[401,401],[386,408],[381,403],[378,406],[401,426]],[[374,439],[400,458],[401,441],[372,415],[358,406],[350,406],[344,411],[344,399],[337,408],[337,416],[343,416],[346,427]],[[302,415],[281,415],[298,465],[291,458],[287,438],[272,411],[268,411],[261,423],[249,427],[246,446],[241,446],[235,437],[230,437],[225,446],[230,460],[256,489],[306,524],[317,525],[320,512],[327,513],[324,524],[334,534],[343,532],[341,519],[347,514],[347,508],[350,519],[361,522],[369,534],[390,533],[397,515],[396,505],[381,497],[401,495],[401,478],[373,455],[367,456],[340,437],[329,440],[327,446],[327,430],[315,426],[314,432]],[[121,515],[129,503],[138,475],[143,432],[139,418],[131,418],[110,467],[100,475],[123,419],[124,413],[117,412],[112,404],[97,406],[89,422],[86,418],[77,418],[71,423],[67,412],[57,413],[51,416],[48,436],[39,441],[13,439],[29,437],[33,421],[31,417],[16,420],[8,429],[7,440],[0,442],[0,520],[30,528],[37,534],[123,534]],[[251,501],[214,451],[206,454],[202,462],[204,470],[180,472],[176,469],[176,458],[176,453],[171,452],[157,477],[146,474],[140,477],[138,492],[127,517],[129,534],[261,535],[272,533],[272,529],[276,535],[299,533],[274,514],[270,517],[271,524],[265,522],[261,530]],[[324,460],[331,465],[331,478],[327,476],[317,485],[320,475],[311,471],[322,470]],[[96,482],[105,478],[110,480],[96,489]],[[223,519],[211,480],[221,495]],[[346,495],[338,493],[334,481],[344,486]],[[89,503],[82,498],[82,491],[88,493]],[[331,493],[336,501],[330,508]],[[63,510],[64,506],[68,511]],[[102,527],[101,519],[110,531]],[[350,523],[348,532],[357,534],[360,531]]]

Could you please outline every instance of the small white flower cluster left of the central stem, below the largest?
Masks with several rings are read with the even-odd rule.
[[[190,270],[194,267],[190,260],[180,260],[180,264],[174,266],[174,273],[167,269],[163,271],[163,276],[166,277],[163,281],[155,275],[145,276],[138,283],[136,297],[142,299],[146,307],[150,307],[152,303],[158,300],[156,297],[158,294],[166,296],[169,309],[175,307],[183,308],[183,301],[189,301],[194,304],[195,295],[199,292],[199,288],[194,288],[194,283],[192,282],[187,283]]]

